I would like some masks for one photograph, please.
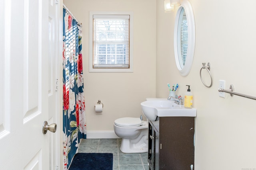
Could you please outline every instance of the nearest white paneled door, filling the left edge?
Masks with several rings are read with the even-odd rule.
[[[0,4],[0,169],[48,170],[48,0]]]

